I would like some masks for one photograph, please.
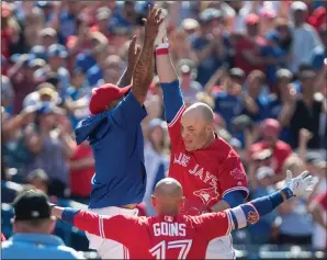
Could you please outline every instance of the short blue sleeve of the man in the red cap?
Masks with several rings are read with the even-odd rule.
[[[129,92],[119,105],[110,111],[113,123],[124,129],[135,128],[147,116],[144,105],[140,105],[134,94]]]

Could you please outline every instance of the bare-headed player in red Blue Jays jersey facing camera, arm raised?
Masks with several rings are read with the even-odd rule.
[[[248,195],[240,158],[214,132],[214,116],[210,106],[195,103],[185,108],[165,35],[165,27],[160,27],[157,39],[161,37],[161,41],[157,41],[156,65],[171,140],[169,177],[183,186],[185,214],[200,215],[235,207],[244,203]],[[210,242],[207,259],[233,257],[230,236]]]

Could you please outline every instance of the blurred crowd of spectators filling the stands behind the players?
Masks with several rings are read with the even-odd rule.
[[[7,238],[12,235],[10,203],[24,189],[41,189],[63,206],[87,205],[94,160],[88,143],[76,146],[74,128],[89,115],[92,89],[123,74],[132,36],[143,37],[147,4],[1,2],[1,228]],[[295,174],[307,169],[318,180],[309,197],[292,200],[235,233],[235,244],[325,250],[326,224],[317,217],[326,217],[327,207],[327,2],[158,4],[167,12],[187,102],[205,102],[214,110],[217,133],[247,169],[250,199],[275,190],[287,169]],[[148,181],[139,208],[153,215],[149,197],[169,166],[156,78],[146,106]],[[57,223],[55,234],[88,250],[80,231]]]

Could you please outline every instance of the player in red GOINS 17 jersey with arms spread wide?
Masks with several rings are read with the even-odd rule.
[[[166,178],[158,182],[153,196],[156,217],[99,216],[60,207],[54,207],[53,215],[81,230],[125,245],[129,251],[125,259],[205,259],[207,245],[213,238],[255,224],[284,200],[309,190],[314,183],[312,177],[306,176],[307,172],[303,172],[292,179],[289,174],[287,185],[280,192],[222,213],[181,214],[184,201],[181,184]]]

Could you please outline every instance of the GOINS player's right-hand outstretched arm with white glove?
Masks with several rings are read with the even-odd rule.
[[[208,213],[200,216],[203,218],[203,231],[206,233],[208,239],[212,239],[227,235],[235,229],[255,225],[262,216],[271,213],[284,201],[311,192],[314,185],[313,177],[308,176],[307,171],[294,179],[292,179],[292,172],[287,171],[285,183],[285,188],[271,195],[256,199],[222,213]]]

